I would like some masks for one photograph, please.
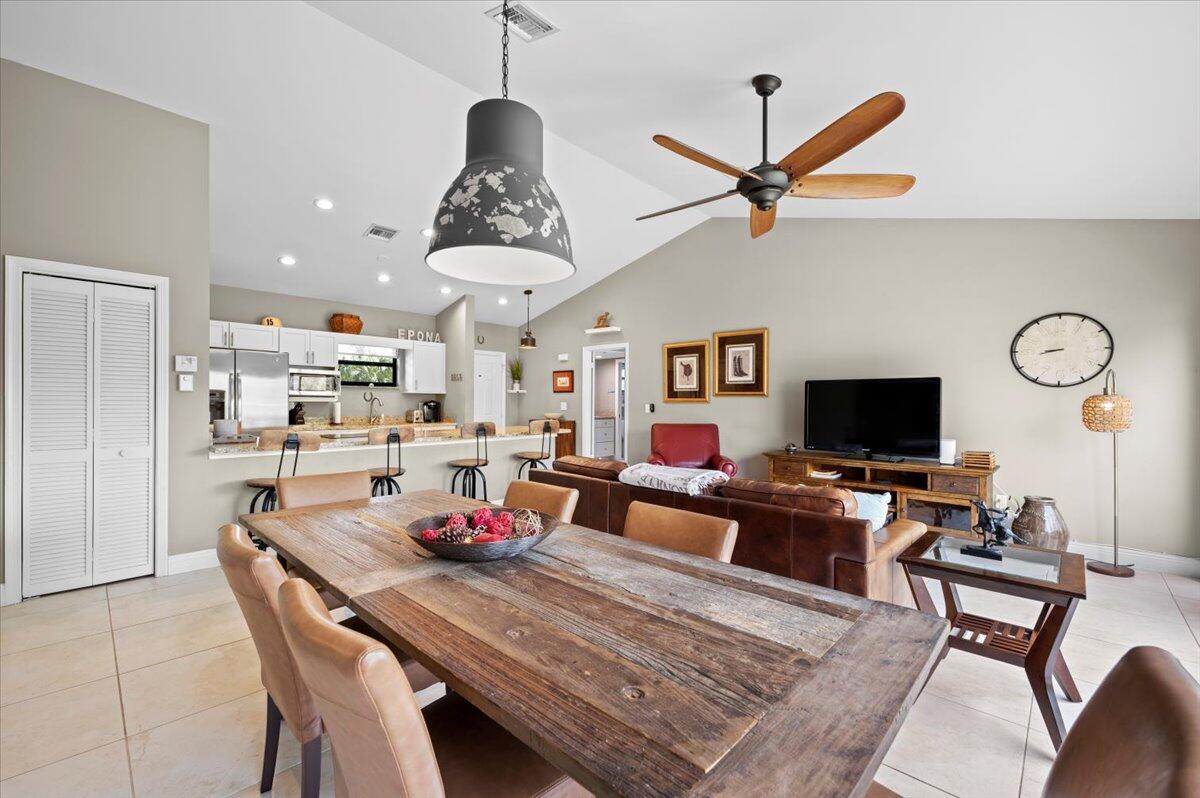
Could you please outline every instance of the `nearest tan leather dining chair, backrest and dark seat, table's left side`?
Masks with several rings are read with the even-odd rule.
[[[307,582],[283,583],[280,618],[334,743],[338,798],[589,794],[462,696],[422,713],[392,653],[334,623]]]

